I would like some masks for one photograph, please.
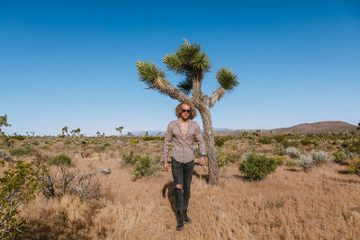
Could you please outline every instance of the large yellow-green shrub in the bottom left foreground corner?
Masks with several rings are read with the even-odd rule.
[[[4,162],[1,163],[4,167]],[[0,239],[20,238],[24,220],[19,207],[34,199],[40,190],[40,175],[46,169],[40,164],[19,160],[9,164],[0,176]]]

